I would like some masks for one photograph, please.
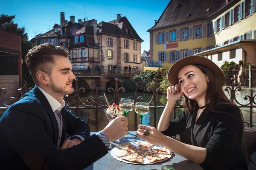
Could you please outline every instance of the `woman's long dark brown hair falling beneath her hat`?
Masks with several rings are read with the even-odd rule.
[[[207,84],[207,91],[206,91],[206,95],[205,95],[205,105],[208,104],[207,105],[207,109],[209,111],[212,111],[214,113],[223,113],[223,114],[225,114],[224,112],[215,111],[215,109],[214,109],[215,106],[229,104],[229,105],[234,105],[234,106],[237,107],[237,105],[235,105],[224,94],[224,91],[223,91],[222,87],[219,85],[217,78],[213,76],[213,73],[212,73],[211,70],[209,70],[209,68],[206,68],[206,67],[204,67],[202,65],[197,65],[197,64],[194,64],[193,66],[195,66],[196,68],[199,68],[202,71],[202,73],[205,74],[208,77],[208,79],[209,79],[209,82]],[[187,111],[189,111],[189,113],[193,113],[193,111],[195,109],[196,103],[197,102],[195,100],[188,99],[183,94],[183,107]],[[241,130],[242,131],[242,134],[241,134],[242,146],[241,147],[242,147],[242,149],[244,151],[244,156],[245,156],[245,148],[244,148],[244,118],[243,118],[243,114],[242,114],[240,109],[239,109],[239,111],[240,111],[240,116],[241,116],[240,120],[241,120],[241,128],[242,128],[242,130]]]

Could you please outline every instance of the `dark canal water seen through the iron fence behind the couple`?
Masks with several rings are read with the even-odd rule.
[[[111,102],[113,100],[113,92],[108,93],[107,91],[97,91],[97,96],[104,96],[103,93],[106,94],[108,101]],[[93,103],[88,102],[88,97],[96,96],[96,91],[86,91],[85,93],[80,93],[80,98],[81,102],[83,102],[85,105],[91,105]],[[125,91],[124,93],[120,92],[120,99],[121,98],[128,98],[129,96],[135,96],[135,92],[127,92]],[[143,102],[150,102],[152,98],[152,93],[137,93],[137,97],[143,96],[144,101]],[[164,94],[158,94],[158,98],[161,103],[164,105],[166,104],[166,95]],[[70,103],[73,99],[73,96],[70,96],[68,99],[68,103]],[[105,102],[101,102],[101,104],[106,104]],[[151,103],[151,105],[154,105],[154,101]],[[75,106],[75,105],[74,105]],[[82,106],[79,104],[79,106]],[[95,106],[95,105],[94,105]],[[157,106],[161,106],[160,103],[157,102]],[[244,121],[249,122],[249,111],[244,110],[243,108],[241,109],[242,113],[244,115]],[[76,113],[74,110],[70,110],[74,114]],[[177,109],[176,110],[176,116],[179,116],[183,112],[183,109]],[[96,116],[95,116],[95,109],[81,109],[79,110],[79,117],[81,117],[85,122],[90,125],[90,130],[95,131],[96,130]],[[157,124],[159,122],[160,116],[163,113],[163,108],[157,108],[156,111],[156,117],[157,117]],[[255,112],[253,112],[253,123],[256,123],[256,116]],[[128,122],[129,122],[129,131],[134,130],[134,116],[137,116],[137,125],[140,124],[140,115],[136,114],[133,111],[128,112]],[[102,111],[102,109],[98,109],[98,131],[104,129],[104,127],[108,124],[108,119],[105,116],[105,113]],[[143,116],[143,125],[148,125],[148,126],[154,126],[154,110],[150,109],[148,114],[145,114]],[[247,126],[247,125],[245,125]]]

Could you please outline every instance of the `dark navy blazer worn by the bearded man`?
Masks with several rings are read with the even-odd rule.
[[[105,144],[90,136],[89,126],[67,109],[61,111],[63,131],[81,135],[81,144],[57,150],[58,123],[48,100],[37,86],[10,106],[0,119],[0,169],[81,170],[108,153]]]

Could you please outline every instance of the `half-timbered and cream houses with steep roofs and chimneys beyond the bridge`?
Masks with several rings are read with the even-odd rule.
[[[65,20],[61,12],[61,24],[55,24],[52,30],[34,37],[32,42],[43,44],[50,42],[63,45],[70,50],[70,61],[74,69],[96,70],[97,66],[106,68],[111,74],[113,65],[118,68],[131,65],[136,70],[140,64],[140,44],[143,40],[136,33],[126,17],[117,14],[111,22],[97,24],[97,20],[75,22]]]

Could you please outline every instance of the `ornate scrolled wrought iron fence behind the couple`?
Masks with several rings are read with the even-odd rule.
[[[224,88],[224,91],[227,91],[229,93],[229,99],[233,102],[236,102],[236,104],[239,106],[239,108],[249,108],[250,109],[250,119],[249,122],[244,122],[247,126],[249,127],[253,127],[254,124],[252,122],[253,119],[253,108],[256,108],[256,102],[255,102],[255,97],[256,94],[253,95],[253,88],[251,88],[251,92],[250,94],[246,95],[243,97],[243,99],[247,102],[245,104],[241,104],[241,102],[239,102],[236,99],[236,92],[237,91],[241,91],[242,88],[241,87],[236,87],[234,86],[234,78],[231,79],[232,81],[232,86],[231,87],[226,87]],[[119,102],[119,96],[120,93],[124,93],[125,92],[125,88],[118,88],[118,81],[119,79],[115,79],[116,81],[116,85],[115,85],[115,89],[114,88],[108,88],[108,93],[113,93],[113,99],[111,102],[109,102],[110,104],[112,104],[113,102],[115,102],[116,104],[118,104]],[[78,87],[78,79],[75,79],[76,82],[76,87],[75,87],[75,91],[74,91],[74,97],[72,99],[71,102],[66,102],[66,108],[69,110],[73,110],[73,114],[75,114],[78,117],[81,117],[79,115],[79,111],[80,110],[87,110],[87,109],[93,109],[95,110],[95,130],[98,131],[98,116],[99,116],[99,109],[101,109],[96,103],[93,102],[93,100],[95,100],[99,105],[101,105],[103,108],[107,108],[108,105],[106,104],[105,98],[103,96],[97,96],[97,93],[95,96],[90,96],[87,100],[89,103],[91,104],[85,104],[84,102],[81,101],[81,97],[80,94],[81,93],[85,93],[85,89],[84,88],[79,88]],[[31,90],[32,88],[29,88],[28,90]],[[7,92],[6,88],[2,88],[0,89],[0,105],[2,105],[2,107],[0,107],[0,111],[5,111],[10,105],[7,105],[5,102],[3,102],[1,95],[5,94]],[[160,99],[158,98],[158,93],[159,92],[163,92],[163,88],[157,88],[157,79],[154,78],[154,88],[147,88],[147,92],[148,93],[152,93],[152,97],[151,100],[149,102],[150,104],[150,109],[152,109],[154,111],[154,127],[157,126],[157,109],[163,109],[165,107],[165,105],[160,102]],[[70,96],[65,96],[64,99],[66,101],[69,100]],[[135,90],[134,96],[129,96],[129,99],[133,99],[134,102],[142,102],[144,101],[143,96],[137,96],[137,90]],[[93,100],[92,100],[93,99]],[[16,102],[18,99],[16,99],[15,97],[12,97],[10,99],[12,103]],[[180,99],[181,100],[181,99]],[[102,104],[103,103],[103,104]],[[158,103],[158,105],[157,105]],[[182,105],[179,104],[180,102],[177,101],[177,105],[175,106],[175,109],[173,111],[173,117],[174,119],[176,118],[176,111],[179,108],[183,108]],[[137,130],[137,114],[134,113],[134,130]],[[1,115],[0,115],[1,116]]]

